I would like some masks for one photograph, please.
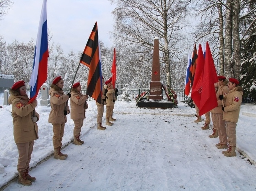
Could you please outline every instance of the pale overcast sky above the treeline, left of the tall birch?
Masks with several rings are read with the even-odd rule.
[[[14,0],[8,13],[0,21],[0,34],[10,44],[14,39],[27,43],[36,42],[43,0]],[[108,0],[47,0],[47,24],[55,44],[64,53],[83,51],[95,22],[99,38],[114,46],[109,38],[113,30],[114,5]]]

